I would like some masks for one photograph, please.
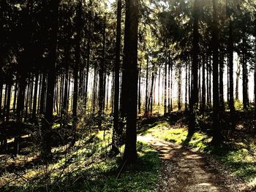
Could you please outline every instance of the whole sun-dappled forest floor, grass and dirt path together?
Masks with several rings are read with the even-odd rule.
[[[68,142],[57,143],[49,164],[39,158],[39,144],[32,142],[35,132],[23,138],[29,145],[22,145],[19,155],[0,155],[0,191],[255,192],[255,138],[246,134],[244,118],[215,148],[206,124],[210,121],[199,120],[203,128],[188,137],[184,116],[140,118],[138,161],[132,169],[121,169],[124,146],[119,155],[108,155],[111,128],[81,126],[75,146],[67,150]]]

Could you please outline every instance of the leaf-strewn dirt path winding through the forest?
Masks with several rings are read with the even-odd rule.
[[[155,191],[236,192],[243,188],[200,153],[151,136],[138,136],[138,140],[152,145],[162,159]]]

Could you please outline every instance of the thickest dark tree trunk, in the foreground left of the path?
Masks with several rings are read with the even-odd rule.
[[[137,158],[136,124],[138,99],[138,0],[126,0],[124,29],[124,73],[127,75],[127,134],[124,148],[124,163],[134,164]]]

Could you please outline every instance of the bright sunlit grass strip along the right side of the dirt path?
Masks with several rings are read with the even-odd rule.
[[[179,128],[177,126],[178,128],[172,128],[167,120],[160,120],[144,126],[148,126],[148,129],[144,128],[146,131],[142,134],[150,134],[159,139],[186,145],[203,153],[209,153],[230,169],[230,172],[244,180],[247,185],[250,187],[256,186],[255,143],[240,142],[237,145],[236,142],[233,142],[229,145],[214,148],[210,145],[212,138],[202,131],[197,131],[191,138],[187,138],[188,131],[186,127]]]

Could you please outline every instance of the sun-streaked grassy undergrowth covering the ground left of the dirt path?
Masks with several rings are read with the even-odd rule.
[[[120,155],[110,158],[111,131],[94,134],[92,142],[87,142],[91,136],[80,138],[67,154],[62,154],[64,146],[55,147],[53,153],[57,159],[48,165],[14,170],[15,174],[4,173],[1,182],[10,183],[4,188],[0,185],[0,191],[152,191],[155,188],[160,169],[156,150],[138,141],[138,163],[119,174],[124,146]]]

